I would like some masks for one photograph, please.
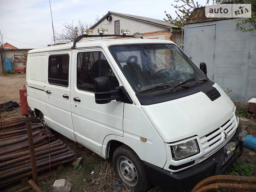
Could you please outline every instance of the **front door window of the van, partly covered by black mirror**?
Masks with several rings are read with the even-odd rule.
[[[77,54],[77,89],[94,92],[94,79],[102,76],[108,77],[111,90],[119,86],[119,82],[102,52],[79,52]]]

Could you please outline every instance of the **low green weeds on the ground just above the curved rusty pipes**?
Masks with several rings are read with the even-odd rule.
[[[240,158],[230,167],[228,175],[253,176],[254,164],[244,163]]]

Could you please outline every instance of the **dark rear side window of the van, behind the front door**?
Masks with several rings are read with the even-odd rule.
[[[68,87],[69,55],[50,55],[48,62],[49,84]]]

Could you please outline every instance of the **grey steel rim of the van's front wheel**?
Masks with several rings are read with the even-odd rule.
[[[130,187],[134,187],[138,183],[138,173],[132,161],[127,157],[119,157],[117,159],[117,171],[121,179]]]

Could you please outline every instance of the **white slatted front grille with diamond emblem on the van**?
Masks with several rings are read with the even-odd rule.
[[[200,138],[200,142],[203,148],[213,148],[215,145],[219,144],[223,136],[223,132],[227,133],[227,139],[231,136],[231,131],[235,128],[236,119],[232,116],[226,123],[221,125],[218,129],[206,134]]]

